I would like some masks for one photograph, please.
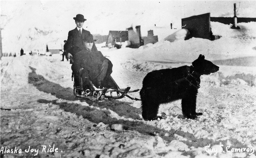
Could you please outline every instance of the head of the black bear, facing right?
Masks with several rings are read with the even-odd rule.
[[[215,73],[219,71],[219,67],[211,63],[211,61],[205,60],[204,55],[199,55],[198,59],[192,62],[194,71],[200,75],[209,75],[210,73]]]

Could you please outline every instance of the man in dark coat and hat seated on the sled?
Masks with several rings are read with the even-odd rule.
[[[91,86],[90,81],[96,88],[107,87],[107,80],[112,73],[112,63],[109,59],[104,57],[100,51],[91,48],[93,46],[93,35],[89,35],[86,39],[83,39],[83,45],[85,48],[76,53],[74,57],[74,63],[71,69],[74,73],[79,74],[83,82],[83,91],[89,93],[95,91],[95,88]]]

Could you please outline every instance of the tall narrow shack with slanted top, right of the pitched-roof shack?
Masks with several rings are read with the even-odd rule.
[[[136,30],[132,27],[126,28],[126,30],[128,30],[128,40],[131,43],[131,48],[138,48],[144,45],[144,41],[141,38],[140,26],[136,26],[135,29]]]

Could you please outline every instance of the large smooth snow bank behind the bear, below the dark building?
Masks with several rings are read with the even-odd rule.
[[[192,62],[200,54],[205,55],[205,59],[210,61],[255,57],[256,52],[253,49],[256,43],[255,24],[256,22],[241,23],[241,29],[234,30],[229,25],[213,22],[211,26],[213,34],[222,36],[218,40],[191,38],[187,41],[175,41],[175,38],[171,38],[173,42],[159,41],[151,47],[138,50],[138,53],[134,53],[134,59],[139,61]],[[169,37],[174,35],[176,34]]]

